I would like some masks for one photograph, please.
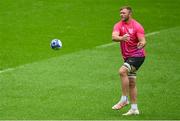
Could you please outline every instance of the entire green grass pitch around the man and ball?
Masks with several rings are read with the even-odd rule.
[[[1,0],[0,120],[180,120],[178,0]],[[145,28],[139,116],[114,111],[120,97],[119,7]],[[62,40],[54,51],[50,41]]]

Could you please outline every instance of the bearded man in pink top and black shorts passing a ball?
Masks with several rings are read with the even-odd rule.
[[[121,21],[115,24],[112,32],[112,40],[120,42],[124,64],[119,69],[121,78],[122,96],[120,101],[112,109],[118,110],[129,104],[131,109],[123,115],[138,115],[136,71],[145,59],[146,45],[143,27],[132,18],[132,9],[129,6],[120,8]]]

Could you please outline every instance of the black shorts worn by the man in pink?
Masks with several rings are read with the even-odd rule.
[[[125,59],[125,63],[128,63],[130,66],[133,66],[136,68],[136,70],[139,69],[139,67],[143,64],[145,60],[145,57],[129,57]]]

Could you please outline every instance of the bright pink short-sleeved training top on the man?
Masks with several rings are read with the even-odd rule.
[[[113,32],[119,32],[119,36],[129,35],[128,41],[120,42],[121,53],[124,59],[145,56],[144,48],[137,48],[138,37],[144,37],[144,29],[136,20],[131,19],[128,23],[124,21],[116,23]]]

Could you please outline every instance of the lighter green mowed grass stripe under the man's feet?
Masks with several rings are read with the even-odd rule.
[[[120,96],[122,64],[114,45],[1,73],[0,119],[180,119],[179,32],[177,27],[147,38],[148,56],[137,81],[140,116],[121,116],[129,106],[111,110]]]

